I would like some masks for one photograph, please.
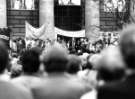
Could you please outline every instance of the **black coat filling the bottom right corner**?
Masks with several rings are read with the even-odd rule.
[[[135,75],[98,88],[98,99],[135,99]]]

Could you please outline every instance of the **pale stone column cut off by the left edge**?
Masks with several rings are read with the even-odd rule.
[[[0,28],[7,27],[7,0],[0,0]]]

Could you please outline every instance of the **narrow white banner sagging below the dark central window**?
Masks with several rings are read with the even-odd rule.
[[[85,37],[85,30],[66,31],[55,27],[55,33],[67,37]]]

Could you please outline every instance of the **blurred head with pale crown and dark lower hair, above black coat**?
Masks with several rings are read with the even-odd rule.
[[[101,52],[98,63],[100,79],[104,81],[120,80],[124,77],[125,64],[118,47],[108,47]]]

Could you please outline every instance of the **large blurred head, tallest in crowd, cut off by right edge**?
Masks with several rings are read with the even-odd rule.
[[[120,49],[128,68],[135,69],[135,24],[128,25],[120,37]]]

